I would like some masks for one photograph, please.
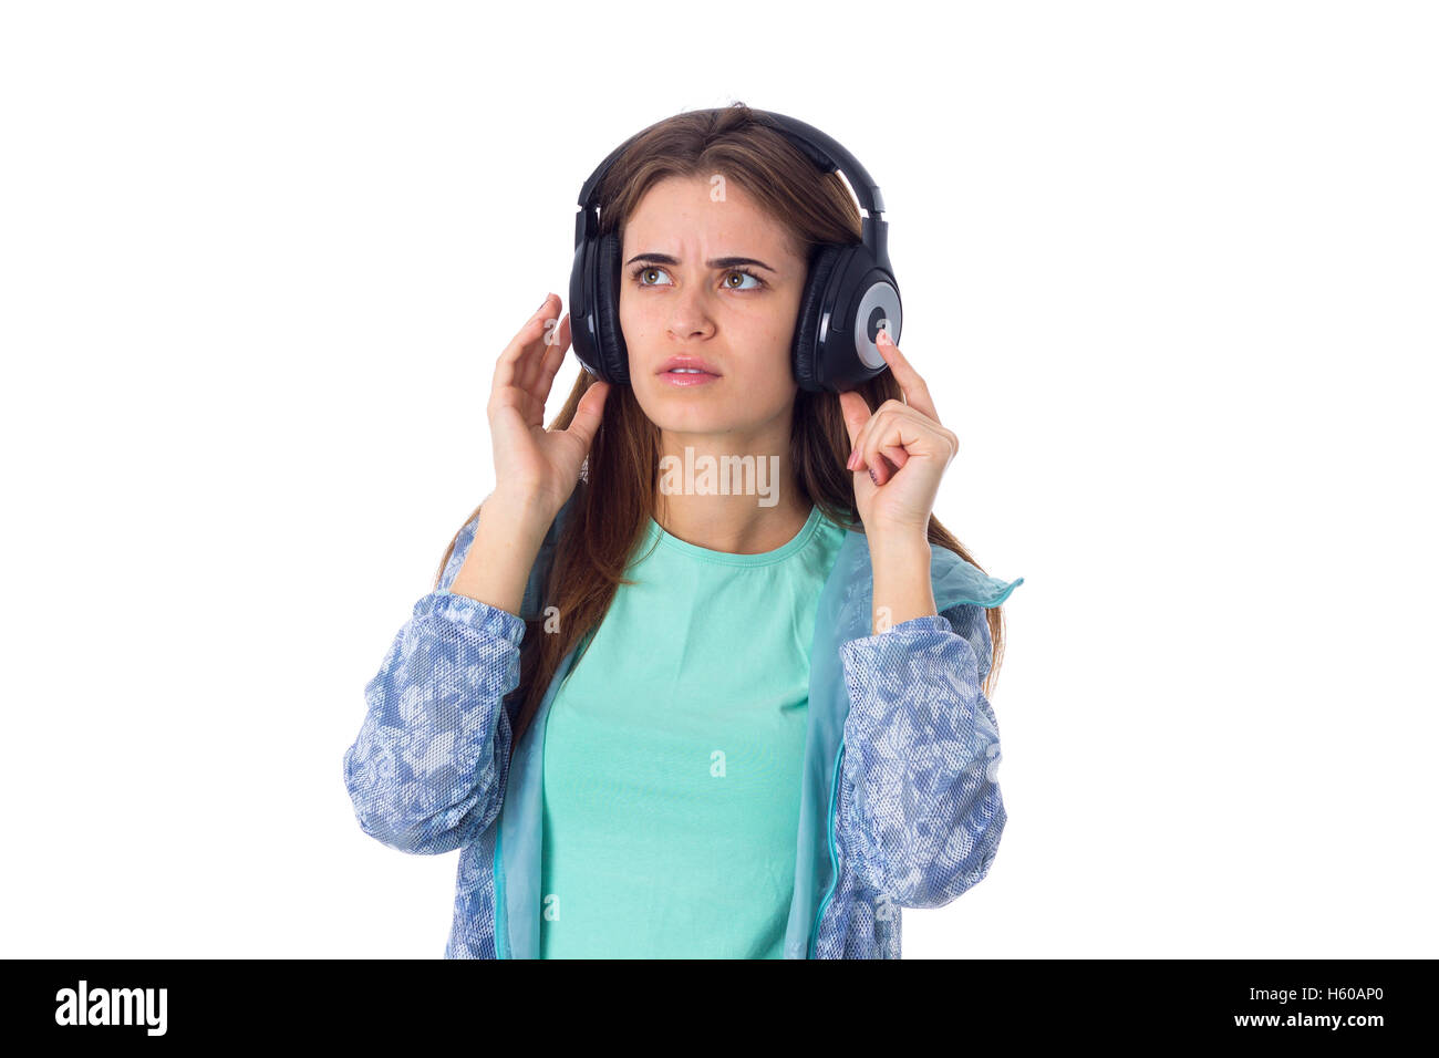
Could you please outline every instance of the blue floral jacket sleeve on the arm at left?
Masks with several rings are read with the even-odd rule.
[[[423,596],[366,685],[345,787],[360,829],[401,852],[468,844],[499,812],[509,759],[505,695],[519,682],[525,623],[452,594],[478,515],[455,541],[440,587]]]

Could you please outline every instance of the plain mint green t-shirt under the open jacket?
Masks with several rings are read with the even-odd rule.
[[[781,957],[809,652],[843,538],[817,507],[761,554],[649,518],[637,583],[545,720],[541,959]]]

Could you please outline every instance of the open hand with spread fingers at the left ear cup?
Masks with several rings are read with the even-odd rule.
[[[596,381],[580,397],[567,429],[547,430],[544,406],[566,350],[568,312],[554,324],[561,307],[554,294],[505,345],[495,364],[486,412],[495,449],[495,492],[540,512],[545,524],[564,507],[580,481],[580,464],[600,428],[609,383]]]

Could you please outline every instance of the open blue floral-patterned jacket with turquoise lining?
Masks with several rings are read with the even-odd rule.
[[[541,590],[574,497],[544,538],[521,612]],[[448,589],[475,538],[460,530],[366,687],[344,754],[360,829],[400,849],[460,849],[446,959],[540,951],[541,761],[555,671],[509,759],[521,618]],[[871,633],[869,544],[848,531],[819,597],[786,959],[898,959],[899,908],[943,907],[987,872],[1004,829],[994,710],[981,692],[984,609],[1023,583],[931,548],[938,616]]]

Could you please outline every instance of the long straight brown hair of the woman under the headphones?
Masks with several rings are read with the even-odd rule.
[[[600,230],[619,227],[623,233],[623,225],[640,199],[659,180],[708,178],[714,173],[744,187],[758,207],[786,229],[796,253],[812,263],[822,243],[862,240],[859,207],[840,177],[820,173],[789,140],[755,121],[743,102],[676,114],[637,137],[614,160],[600,184]],[[581,370],[568,400],[547,429],[568,428],[580,397],[594,381],[589,371]],[[541,616],[525,622],[519,685],[514,691],[521,695],[521,707],[511,753],[534,718],[564,655],[599,628],[619,584],[635,583],[623,577],[623,571],[642,538],[646,518],[653,512],[659,428],[645,415],[630,386],[610,389],[600,428],[576,485],[577,495],[555,543]],[[904,399],[892,371],[875,376],[858,390],[871,409],[885,400]],[[849,451],[849,430],[839,394],[800,389],[794,399],[790,459],[803,498],[819,507],[830,521],[863,533],[855,508],[853,474],[845,469]],[[597,481],[604,482],[603,488],[596,487]],[[476,507],[465,524],[478,512]],[[440,573],[458,538],[459,530],[440,560]],[[928,538],[931,546],[947,547],[983,571],[934,515],[930,517]],[[435,576],[436,587],[440,573]],[[548,606],[558,612],[558,630],[553,633],[543,629],[543,612]],[[1004,649],[1003,607],[990,607],[986,618],[993,641],[993,664],[984,679],[984,694],[989,695]],[[581,655],[583,649],[576,664]]]

